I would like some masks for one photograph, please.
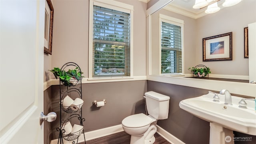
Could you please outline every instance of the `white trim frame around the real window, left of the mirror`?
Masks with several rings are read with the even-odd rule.
[[[93,6],[101,6],[112,10],[126,12],[130,14],[130,76],[106,76],[93,77]],[[133,78],[133,6],[114,0],[90,0],[89,4],[89,44],[88,44],[88,80],[110,80]]]

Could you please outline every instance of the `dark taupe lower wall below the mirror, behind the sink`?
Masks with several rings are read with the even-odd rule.
[[[207,94],[208,90],[147,81],[148,91],[155,91],[170,96],[169,116],[166,120],[158,120],[158,126],[164,128],[176,138],[186,144],[209,144],[210,123],[182,110],[179,102],[187,98],[194,98]],[[235,95],[235,94],[232,94]],[[236,95],[239,96],[239,95]],[[241,96],[241,95],[240,95]],[[235,137],[252,137],[252,141],[237,141],[235,144],[255,144],[256,136],[234,132]]]

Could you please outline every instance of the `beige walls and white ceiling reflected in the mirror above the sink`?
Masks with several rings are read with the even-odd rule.
[[[243,0],[239,4],[223,8],[224,0],[218,2],[220,11],[205,14],[204,10],[192,9],[195,0],[173,0],[151,15],[151,56],[160,52],[159,15],[163,14],[184,21],[184,62],[182,77],[191,77],[188,68],[203,64],[210,68],[209,79],[229,79],[249,82],[248,58],[244,58],[244,28],[256,22],[255,1]],[[189,11],[192,10],[192,11]],[[254,16],[252,16],[254,14]],[[232,60],[212,60],[203,62],[202,39],[232,32]],[[152,58],[150,74],[159,75],[155,67],[160,62]],[[217,78],[217,79],[216,79]]]

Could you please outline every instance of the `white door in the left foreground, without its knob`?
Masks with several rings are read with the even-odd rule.
[[[0,144],[42,144],[44,0],[0,0]]]

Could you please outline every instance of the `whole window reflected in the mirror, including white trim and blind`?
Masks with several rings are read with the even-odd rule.
[[[183,20],[159,15],[161,74],[183,74]]]

